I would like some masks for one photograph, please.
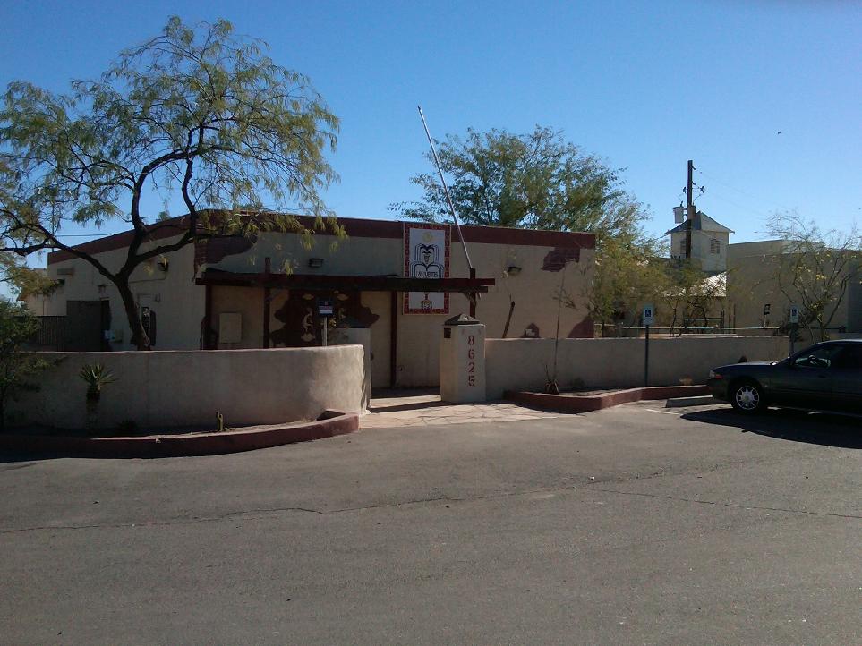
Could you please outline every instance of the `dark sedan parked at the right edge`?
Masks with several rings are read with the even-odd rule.
[[[739,412],[782,406],[862,414],[862,339],[815,344],[782,361],[721,366],[707,383]]]

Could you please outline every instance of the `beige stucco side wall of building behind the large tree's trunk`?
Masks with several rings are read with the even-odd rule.
[[[167,244],[176,238],[157,243]],[[155,243],[141,246],[147,251]],[[118,249],[99,253],[97,258],[105,267],[115,271],[122,267],[127,251]],[[191,350],[199,347],[201,319],[204,309],[204,288],[194,284],[194,248],[192,245],[166,254],[168,269],[158,268],[156,259],[144,263],[132,273],[131,287],[135,300],[156,312],[158,350]],[[70,276],[64,270],[72,270]],[[116,287],[96,268],[82,259],[70,259],[48,265],[51,278],[62,278],[65,285],[57,288],[44,302],[28,307],[40,316],[65,316],[68,301],[103,301],[111,303],[111,329],[115,350],[132,349],[132,331],[126,320],[123,302]]]

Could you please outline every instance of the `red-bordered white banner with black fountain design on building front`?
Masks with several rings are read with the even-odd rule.
[[[448,225],[404,225],[404,275],[411,278],[448,278]],[[448,293],[404,294],[405,314],[448,314]]]

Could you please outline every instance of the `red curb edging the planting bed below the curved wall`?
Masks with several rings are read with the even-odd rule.
[[[221,455],[332,438],[359,430],[359,416],[324,412],[320,419],[267,429],[148,435],[141,438],[73,438],[49,435],[0,435],[0,449],[87,457],[178,457]]]

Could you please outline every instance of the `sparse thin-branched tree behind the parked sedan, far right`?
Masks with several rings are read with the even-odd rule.
[[[784,241],[774,276],[781,293],[801,306],[799,326],[825,341],[849,285],[862,282],[862,235],[824,231],[796,213],[776,213],[769,233]]]

